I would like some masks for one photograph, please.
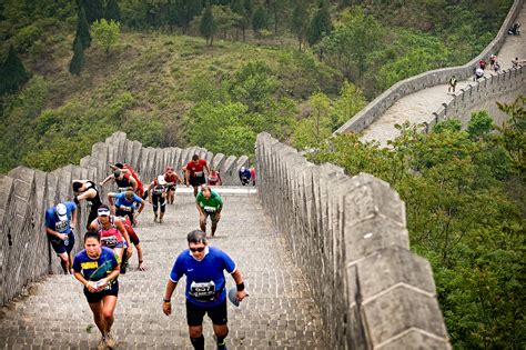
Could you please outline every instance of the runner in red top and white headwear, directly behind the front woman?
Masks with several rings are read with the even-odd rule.
[[[98,218],[90,223],[89,229],[99,233],[102,246],[112,249],[118,254],[119,261],[122,262],[121,272],[125,273],[128,259],[132,256],[133,249],[130,236],[121,220],[110,213],[107,204],[102,204],[98,210]]]

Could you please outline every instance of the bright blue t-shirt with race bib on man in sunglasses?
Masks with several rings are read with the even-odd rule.
[[[191,256],[190,249],[180,253],[170,272],[170,279],[176,283],[185,274],[186,299],[196,306],[215,307],[226,298],[223,270],[234,272],[235,262],[224,251],[213,247],[206,248],[208,252],[201,261]]]

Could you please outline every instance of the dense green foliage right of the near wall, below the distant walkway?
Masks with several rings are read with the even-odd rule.
[[[468,132],[449,121],[428,134],[404,124],[391,149],[344,134],[322,143],[312,156],[351,176],[372,173],[398,191],[407,208],[411,247],[432,263],[441,309],[457,348],[526,344],[525,320],[517,308],[525,302],[524,196],[507,190],[524,189],[524,168],[514,157],[503,157],[506,144],[524,141],[519,106],[503,107],[513,113],[505,127],[509,132],[488,132],[486,116],[476,113]]]

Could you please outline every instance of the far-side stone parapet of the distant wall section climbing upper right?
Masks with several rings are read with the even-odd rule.
[[[471,60],[464,66],[443,68],[423,72],[418,76],[407,78],[405,80],[398,81],[390,89],[385,90],[381,96],[374,99],[368,103],[363,110],[356,113],[346,123],[340,127],[334,134],[343,132],[361,132],[375,120],[377,120],[382,114],[391,108],[396,101],[403,97],[414,93],[416,91],[435,87],[438,84],[446,84],[449,78],[455,74],[458,80],[464,80],[473,76],[473,68],[478,63],[481,59],[488,59],[489,56],[494,52],[498,52],[504,43],[504,40],[507,37],[507,30],[515,22],[518,13],[523,7],[523,0],[515,0],[512,8],[508,11],[506,19],[504,20],[503,26],[500,27],[495,39],[484,49],[481,54]],[[520,81],[524,79],[524,70],[519,70],[516,73],[522,76]],[[517,78],[517,74],[513,74],[513,78]],[[474,83],[477,86],[477,89],[484,89],[485,86]],[[498,90],[498,89],[497,89]],[[490,94],[492,91],[487,91],[486,94]],[[466,111],[462,111],[462,114]],[[432,116],[429,116],[431,118]]]

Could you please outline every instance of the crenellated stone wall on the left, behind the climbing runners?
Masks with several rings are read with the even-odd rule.
[[[193,154],[206,159],[211,168],[221,172],[224,184],[237,184],[237,171],[249,164],[242,156],[213,154],[202,148],[144,148],[130,141],[125,133],[115,132],[105,142],[93,144],[91,156],[82,158],[80,166],[65,166],[52,172],[18,167],[7,176],[0,174],[0,306],[21,294],[23,288],[48,273],[61,271],[59,259],[48,243],[44,213],[50,207],[72,200],[71,181],[90,179],[101,182],[111,173],[109,163],[127,162],[138,171],[144,184],[163,173],[169,164],[179,174]],[[113,184],[101,189],[102,200],[114,190]],[[85,201],[80,211],[85,212]],[[87,216],[79,216],[75,232],[82,232]],[[80,247],[77,234],[75,249]]]

